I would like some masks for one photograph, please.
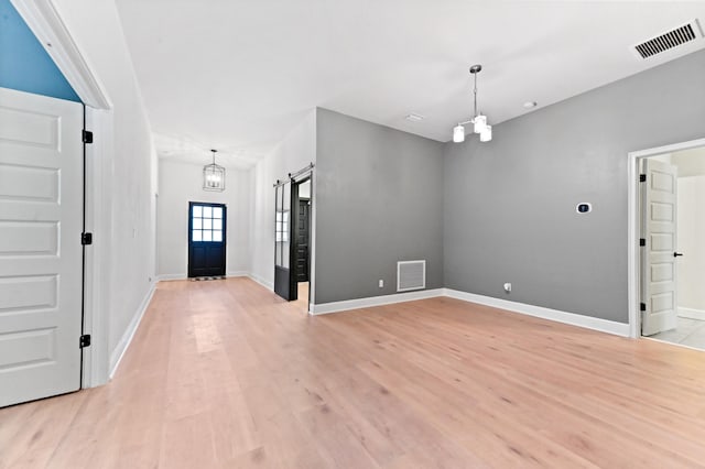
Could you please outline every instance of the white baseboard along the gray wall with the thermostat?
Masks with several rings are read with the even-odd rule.
[[[444,290],[445,296],[451,298],[507,309],[513,313],[570,324],[572,326],[585,327],[587,329],[599,330],[601,332],[614,334],[616,336],[629,337],[629,325],[625,323],[616,323],[614,320],[544,308],[543,306],[527,305],[523,303],[510,302],[508,299],[494,298],[491,296],[476,295],[474,293],[459,292],[452,288]]]

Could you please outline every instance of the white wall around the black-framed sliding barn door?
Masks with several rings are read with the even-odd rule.
[[[272,185],[276,179],[284,179],[289,173],[299,171],[315,161],[316,112],[312,109],[304,120],[253,170],[251,275],[270,288],[274,284],[274,188]],[[313,192],[315,204],[315,182]],[[312,219],[312,226],[315,226],[315,219]],[[315,234],[312,233],[312,236]]]

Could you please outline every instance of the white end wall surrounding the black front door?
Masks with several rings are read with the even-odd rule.
[[[204,160],[204,164],[208,161]],[[203,165],[160,160],[158,197],[158,274],[160,279],[185,279],[188,272],[188,203],[227,206],[228,275],[250,272],[250,171],[226,168],[226,189],[203,189]]]

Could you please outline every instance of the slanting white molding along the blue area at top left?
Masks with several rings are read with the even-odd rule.
[[[80,53],[54,1],[10,1],[83,103],[96,109],[111,109],[112,103],[105,87]],[[51,47],[46,44],[51,44]]]

